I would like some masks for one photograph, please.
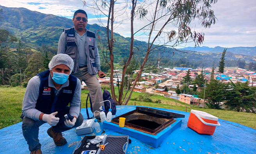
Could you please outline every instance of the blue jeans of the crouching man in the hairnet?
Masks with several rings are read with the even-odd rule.
[[[60,132],[64,132],[69,129],[72,129],[72,128],[82,125],[82,123],[84,121],[84,117],[81,113],[79,113],[79,116],[76,119],[75,126],[67,127],[64,124],[65,119],[61,118],[61,117],[64,117],[64,115],[67,113],[69,113],[69,106],[66,106],[66,108],[64,110],[62,110],[61,112],[58,113],[58,116],[56,116],[56,117],[60,117],[60,120],[56,126],[52,127],[52,130],[54,132],[60,133]],[[39,127],[46,122],[40,121],[40,120],[33,120],[33,119],[30,119],[25,116],[21,116],[21,118],[23,119],[22,133],[23,133],[25,140],[27,141],[28,149],[30,151],[41,149],[41,144],[39,143],[39,140],[38,140]]]

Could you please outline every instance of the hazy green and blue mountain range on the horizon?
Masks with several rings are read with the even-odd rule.
[[[57,48],[60,34],[63,32],[63,28],[73,27],[71,19],[55,16],[52,14],[43,14],[37,11],[30,11],[25,8],[11,8],[0,6],[3,12],[0,12],[0,28],[7,29],[21,40],[24,47],[40,48],[42,45],[51,46]],[[100,36],[98,46],[100,48],[106,48],[106,30],[105,27],[101,27],[97,24],[87,24],[87,29],[97,32]],[[130,53],[130,38],[123,37],[117,33],[114,33],[114,60],[120,62],[128,57]],[[11,48],[18,48],[18,42],[8,43]],[[134,55],[135,59],[141,62],[143,61],[145,52],[147,49],[147,43],[143,41],[134,41]],[[215,66],[218,64],[221,57],[221,52],[224,50],[222,47],[187,47],[179,50],[189,51],[188,53],[179,52],[172,48],[164,48],[168,51],[164,53],[166,56],[162,59],[163,67],[166,65],[186,64],[187,66],[212,66],[215,61]],[[192,51],[190,51],[192,50]],[[256,62],[256,47],[236,47],[228,48],[225,59],[227,61],[232,60],[245,60],[245,62]],[[55,51],[56,52],[56,51]],[[99,50],[100,52],[100,50]],[[174,55],[170,56],[170,54]],[[193,53],[193,54],[192,54]],[[56,53],[54,53],[56,54]],[[103,54],[100,54],[103,57]],[[156,64],[158,60],[158,54],[155,54],[148,60],[151,64]],[[180,61],[179,63],[175,63]],[[160,60],[161,62],[161,60]],[[197,64],[193,64],[197,63]],[[235,63],[235,62],[233,62]],[[235,65],[235,64],[234,64]]]

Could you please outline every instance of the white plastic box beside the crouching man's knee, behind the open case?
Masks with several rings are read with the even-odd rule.
[[[83,135],[92,133],[94,130],[94,119],[84,120],[83,124],[79,127],[76,127],[76,134]]]

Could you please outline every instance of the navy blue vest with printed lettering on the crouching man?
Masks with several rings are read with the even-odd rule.
[[[55,95],[53,87],[48,86],[49,69],[37,74],[40,79],[39,96],[36,102],[36,109],[50,114],[60,112],[72,101],[76,89],[77,78],[69,75],[69,85],[61,89],[58,96]]]

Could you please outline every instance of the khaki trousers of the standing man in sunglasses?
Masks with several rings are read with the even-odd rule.
[[[72,74],[76,76],[82,83],[82,81],[85,82],[87,87],[89,88],[89,93],[92,101],[92,108],[93,108],[93,114],[94,111],[100,111],[100,106],[103,106],[104,103],[101,103],[103,101],[102,96],[102,90],[100,87],[100,82],[97,78],[97,75],[91,75],[87,71],[87,66],[80,67],[78,69],[78,73]],[[95,112],[95,117],[100,117],[99,112]]]

